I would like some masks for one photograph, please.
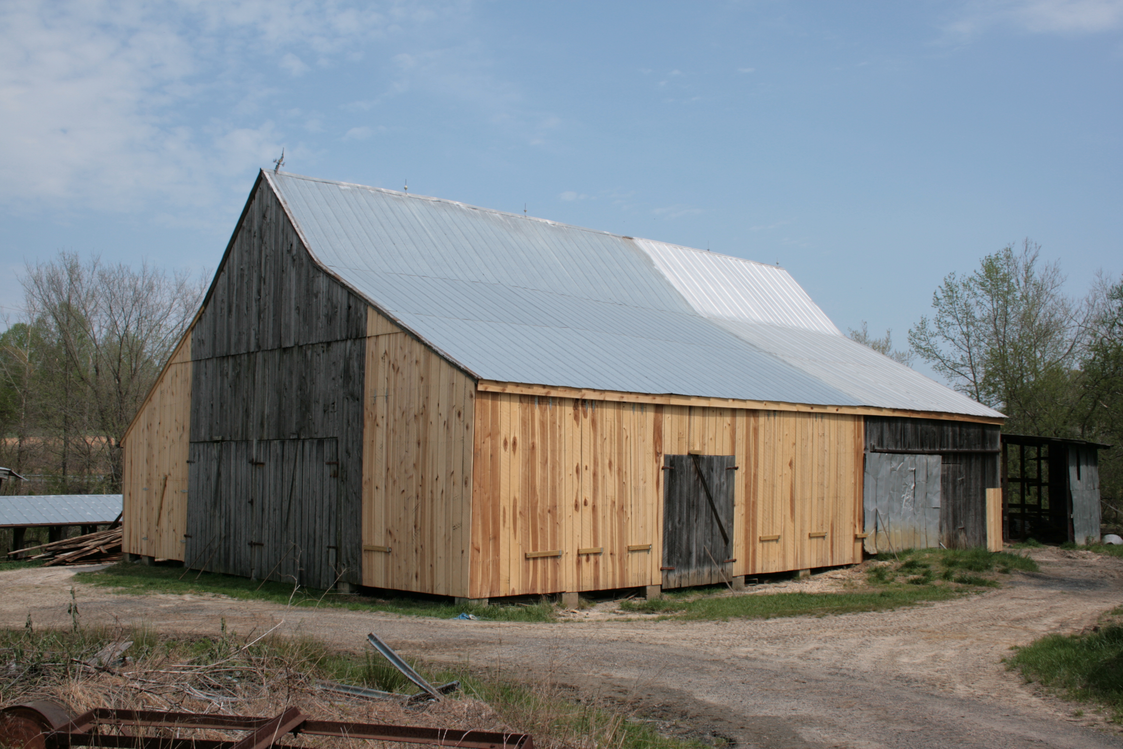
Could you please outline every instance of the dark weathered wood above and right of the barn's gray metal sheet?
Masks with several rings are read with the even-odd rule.
[[[986,546],[986,490],[999,486],[998,449],[996,424],[866,418],[867,456],[879,450],[940,456],[940,542],[948,548]]]

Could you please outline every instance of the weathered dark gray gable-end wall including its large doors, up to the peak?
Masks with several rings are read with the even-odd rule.
[[[189,566],[360,582],[366,316],[258,180],[191,338]]]

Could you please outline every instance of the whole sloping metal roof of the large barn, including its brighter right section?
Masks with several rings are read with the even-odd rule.
[[[844,337],[773,265],[265,175],[321,266],[484,380],[1002,415]]]

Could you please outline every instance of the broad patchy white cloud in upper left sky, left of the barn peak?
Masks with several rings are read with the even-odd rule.
[[[395,3],[122,0],[0,4],[0,205],[212,203],[287,138],[254,74],[332,64],[420,11]],[[230,101],[228,109],[214,101]],[[198,106],[210,117],[200,121]],[[192,119],[194,117],[194,119]],[[308,121],[308,129],[319,122]],[[290,153],[298,144],[289,144]]]

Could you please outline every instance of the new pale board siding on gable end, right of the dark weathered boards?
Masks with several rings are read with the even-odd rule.
[[[367,319],[363,584],[467,596],[475,381]]]

